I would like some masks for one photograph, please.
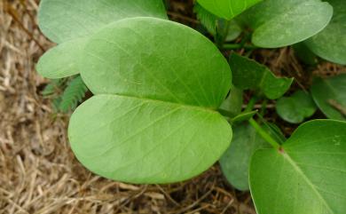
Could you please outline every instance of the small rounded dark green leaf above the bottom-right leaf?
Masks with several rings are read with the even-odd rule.
[[[276,103],[276,112],[289,123],[302,123],[316,112],[316,105],[309,93],[295,91],[291,97],[283,97]]]

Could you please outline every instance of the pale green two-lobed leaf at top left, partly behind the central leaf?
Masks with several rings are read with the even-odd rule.
[[[78,59],[83,42],[99,29],[131,17],[167,19],[161,0],[42,0],[39,27],[59,44],[39,60],[37,71],[49,78],[79,73]]]

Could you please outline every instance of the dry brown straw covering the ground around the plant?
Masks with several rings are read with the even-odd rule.
[[[249,194],[234,192],[218,166],[169,186],[122,184],[85,170],[67,141],[68,115],[41,95],[48,80],[35,63],[52,44],[36,26],[37,4],[0,1],[0,214],[255,213]]]

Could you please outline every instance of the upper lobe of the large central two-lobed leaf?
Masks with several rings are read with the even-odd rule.
[[[82,62],[81,75],[94,94],[216,109],[231,87],[230,68],[208,38],[160,19],[134,18],[104,28],[92,36]]]

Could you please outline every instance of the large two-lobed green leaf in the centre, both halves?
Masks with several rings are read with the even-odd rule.
[[[90,170],[132,183],[176,182],[207,170],[229,146],[231,126],[213,109],[231,88],[231,70],[192,28],[121,20],[83,53],[81,75],[97,95],[77,108],[68,132]]]

